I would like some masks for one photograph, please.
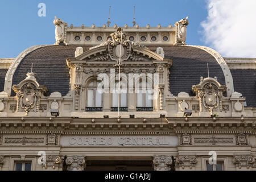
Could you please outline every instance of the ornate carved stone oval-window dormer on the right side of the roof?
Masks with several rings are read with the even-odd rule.
[[[221,85],[214,78],[203,78],[198,85],[192,86],[193,92],[199,97],[200,111],[203,111],[203,107],[210,111],[210,115],[213,115],[213,109],[220,106],[222,110],[222,96],[226,91],[226,86]]]

